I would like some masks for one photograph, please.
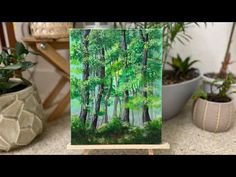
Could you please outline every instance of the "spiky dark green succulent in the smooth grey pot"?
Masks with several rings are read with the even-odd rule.
[[[192,65],[198,62],[198,60],[191,61],[190,57],[182,59],[178,54],[177,57],[172,57],[171,62],[167,62],[172,67],[177,78],[184,77],[189,71],[191,71]]]

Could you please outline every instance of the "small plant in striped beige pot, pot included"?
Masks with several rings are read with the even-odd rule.
[[[217,80],[215,80],[217,82]],[[233,124],[234,105],[229,92],[233,83],[232,74],[227,74],[223,83],[217,86],[215,93],[212,88],[208,93],[200,88],[194,95],[193,123],[203,130],[224,132]]]

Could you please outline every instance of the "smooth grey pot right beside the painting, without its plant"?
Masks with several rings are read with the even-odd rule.
[[[169,120],[176,116],[196,90],[201,76],[185,82],[162,86],[162,117]]]

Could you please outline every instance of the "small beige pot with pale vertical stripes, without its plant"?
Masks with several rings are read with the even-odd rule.
[[[210,132],[224,132],[230,129],[234,121],[233,101],[226,103],[197,99],[193,109],[193,123]]]

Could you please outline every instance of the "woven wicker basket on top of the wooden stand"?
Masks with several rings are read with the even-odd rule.
[[[30,24],[32,36],[35,38],[68,38],[68,30],[72,27],[73,23],[70,22],[32,22]]]

